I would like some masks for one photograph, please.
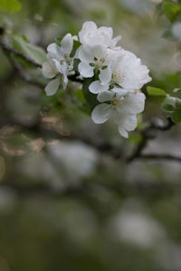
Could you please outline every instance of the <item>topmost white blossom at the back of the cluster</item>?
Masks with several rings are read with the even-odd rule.
[[[111,27],[101,26],[97,27],[96,23],[83,23],[81,31],[79,32],[80,42],[83,45],[106,45],[107,47],[115,47],[121,39],[121,36],[112,38],[113,31]]]

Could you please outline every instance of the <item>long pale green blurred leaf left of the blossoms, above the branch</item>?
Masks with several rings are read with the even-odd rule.
[[[13,47],[39,64],[43,64],[46,61],[46,53],[43,48],[26,42],[22,36],[14,36]]]

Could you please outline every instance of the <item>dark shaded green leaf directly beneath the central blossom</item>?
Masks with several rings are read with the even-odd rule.
[[[87,78],[83,80],[83,95],[85,100],[87,101],[88,105],[90,106],[90,109],[92,110],[94,107],[96,107],[99,104],[99,101],[97,100],[97,95],[90,92],[90,83],[93,82],[94,78]]]

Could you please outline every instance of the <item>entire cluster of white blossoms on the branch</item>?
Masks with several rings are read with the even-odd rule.
[[[92,120],[102,124],[111,117],[119,126],[119,134],[128,137],[128,132],[138,125],[137,114],[144,110],[145,95],[140,89],[151,78],[148,68],[134,53],[117,46],[120,39],[121,36],[113,38],[110,27],[83,23],[78,37],[68,33],[59,44],[48,46],[43,75],[52,79],[45,88],[47,95],[53,95],[61,82],[65,89],[72,74],[83,80],[90,78],[89,91],[98,100],[91,113]],[[74,42],[79,42],[76,51],[73,51]],[[75,60],[79,61],[78,74]]]

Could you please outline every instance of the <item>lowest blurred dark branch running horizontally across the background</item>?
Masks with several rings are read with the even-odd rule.
[[[41,181],[41,180],[40,180]],[[32,196],[46,196],[53,199],[62,199],[63,197],[92,197],[94,200],[97,197],[97,191],[101,189],[112,192],[121,199],[130,197],[131,194],[138,194],[141,197],[156,197],[160,200],[161,197],[170,195],[179,189],[179,183],[170,182],[145,182],[145,180],[135,180],[132,183],[126,182],[81,182],[76,184],[63,184],[60,187],[53,187],[51,184],[39,183],[24,183],[19,181],[6,180],[0,184],[0,189],[9,189],[15,192],[20,198],[27,198]],[[121,183],[121,185],[120,185]]]

